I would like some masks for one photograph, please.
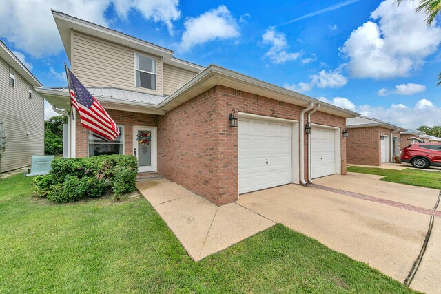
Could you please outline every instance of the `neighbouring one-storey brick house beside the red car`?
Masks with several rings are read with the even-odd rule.
[[[379,166],[400,155],[400,131],[404,129],[366,116],[348,118],[346,127],[347,163]]]

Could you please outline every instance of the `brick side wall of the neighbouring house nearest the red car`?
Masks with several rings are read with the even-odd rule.
[[[391,136],[391,129],[384,127],[358,127],[348,129],[347,163],[353,165],[381,165],[380,134]],[[399,135],[398,135],[399,136]],[[390,137],[389,137],[390,138]],[[389,140],[389,138],[387,138]]]

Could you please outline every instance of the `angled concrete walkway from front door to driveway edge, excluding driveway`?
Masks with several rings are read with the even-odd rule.
[[[136,187],[196,261],[275,224],[236,203],[218,207],[164,178],[140,180]]]

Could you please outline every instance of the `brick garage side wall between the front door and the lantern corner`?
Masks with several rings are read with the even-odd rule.
[[[158,117],[158,174],[221,204],[216,101],[211,89]]]

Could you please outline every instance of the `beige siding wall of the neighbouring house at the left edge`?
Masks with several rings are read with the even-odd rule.
[[[0,172],[30,165],[32,155],[44,154],[44,99],[16,72],[9,85],[9,65],[0,58],[0,123],[8,134],[8,147],[0,158]],[[30,135],[26,136],[29,130]]]

